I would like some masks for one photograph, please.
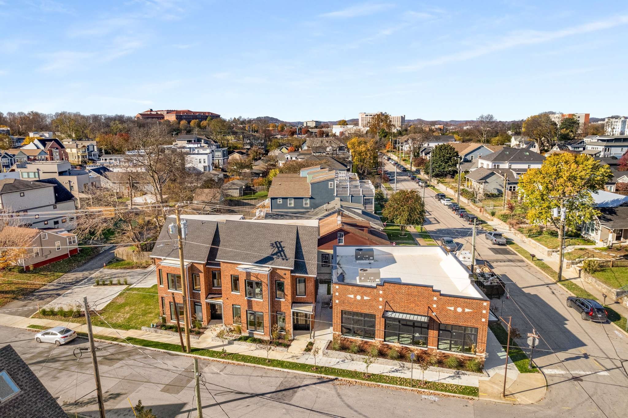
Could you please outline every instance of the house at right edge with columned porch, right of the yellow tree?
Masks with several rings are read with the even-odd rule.
[[[583,222],[582,236],[595,240],[600,246],[612,246],[628,241],[628,196],[597,191],[592,194],[594,206],[600,215]]]

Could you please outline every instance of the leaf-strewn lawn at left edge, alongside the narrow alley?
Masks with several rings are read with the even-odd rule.
[[[42,286],[55,281],[98,254],[94,247],[82,248],[80,253],[55,263],[18,273],[18,268],[10,268],[0,272],[0,306],[23,298]],[[38,282],[38,283],[29,283]]]

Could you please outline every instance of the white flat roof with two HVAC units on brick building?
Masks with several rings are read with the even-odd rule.
[[[373,249],[373,261],[356,261],[355,249]],[[482,298],[472,283],[469,269],[440,246],[335,246],[333,281],[357,284],[359,269],[379,269],[380,280],[360,285],[376,286],[384,281],[432,286],[443,295]]]

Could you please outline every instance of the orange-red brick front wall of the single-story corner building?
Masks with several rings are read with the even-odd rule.
[[[475,353],[486,350],[490,301],[443,296],[430,286],[384,282],[375,287],[333,283],[333,332],[341,333],[342,311],[374,314],[376,340],[384,340],[384,311],[428,316],[428,350],[438,347],[440,323],[478,328]]]

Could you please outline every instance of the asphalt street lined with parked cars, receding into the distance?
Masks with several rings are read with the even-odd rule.
[[[386,169],[393,172],[392,185],[394,167],[386,163]],[[397,175],[398,189],[423,193],[407,174]],[[458,249],[470,250],[472,226],[437,201],[435,194],[425,189],[426,229],[436,240],[448,236],[458,243]],[[538,405],[556,405],[571,416],[625,417],[628,362],[622,359],[628,359],[628,337],[609,322],[583,321],[566,306],[568,292],[512,250],[490,244],[481,230],[476,254],[506,282],[510,298],[493,299],[491,306],[501,316],[512,316],[513,327],[523,336],[519,345],[528,347],[526,333],[533,328],[541,335],[534,361],[546,375],[548,392]]]

